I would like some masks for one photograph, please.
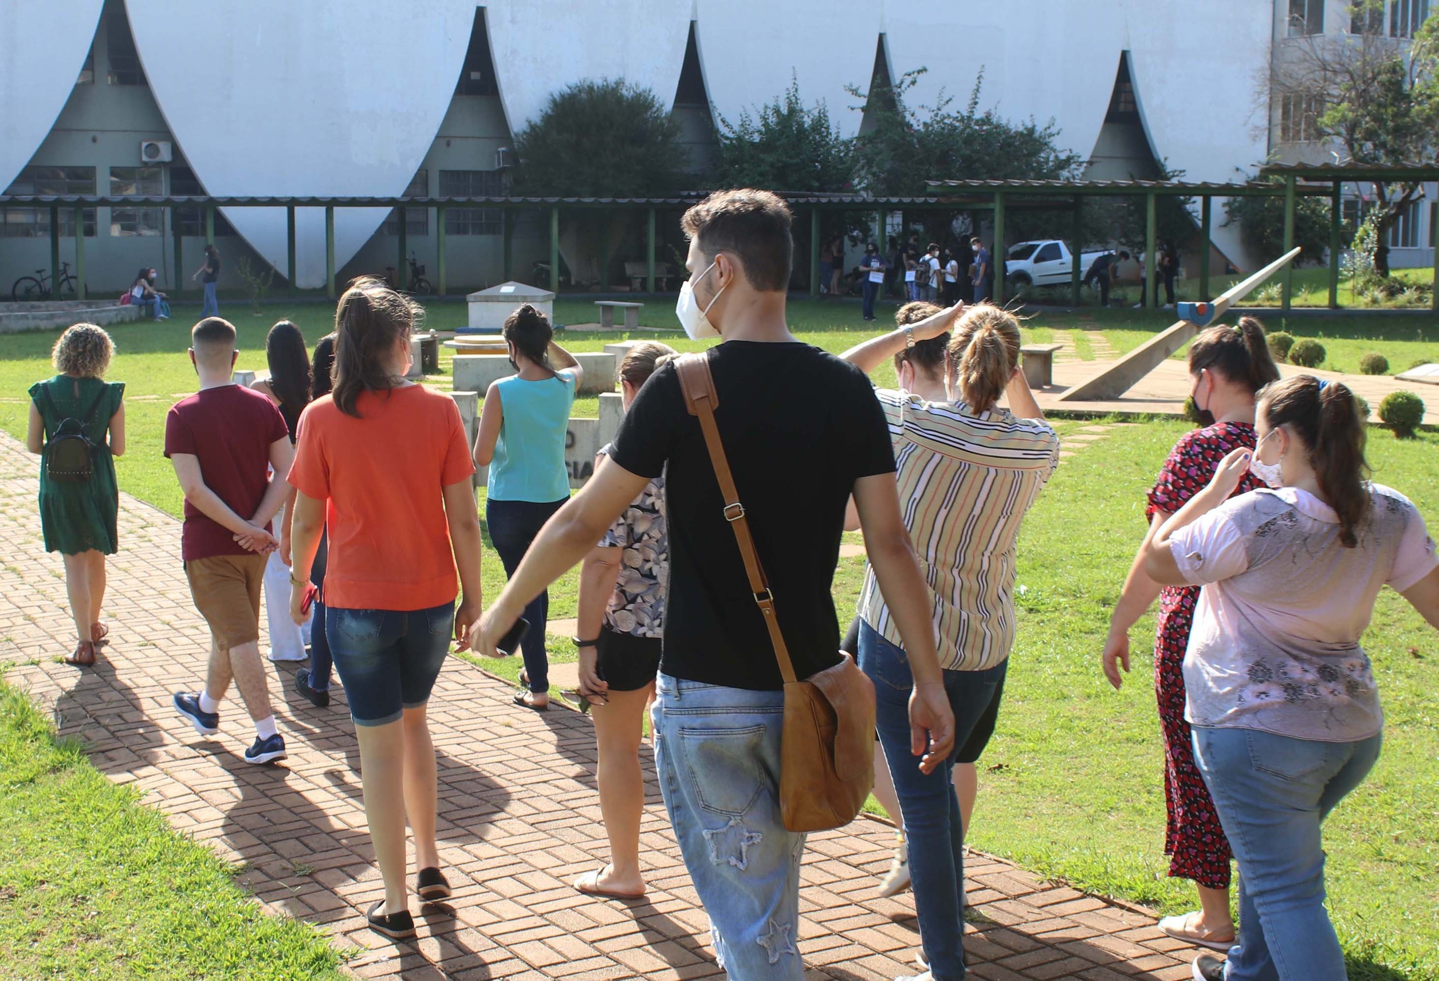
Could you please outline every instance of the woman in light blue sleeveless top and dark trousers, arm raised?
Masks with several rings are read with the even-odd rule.
[[[564,443],[584,370],[554,342],[550,321],[530,304],[505,318],[504,338],[515,374],[492,383],[485,393],[475,466],[489,466],[485,522],[509,577],[544,522],[570,499]],[[519,644],[525,659],[519,680],[530,690],[515,695],[515,705],[540,711],[550,708],[550,660],[544,649],[548,608],[548,591],[525,607],[530,630]]]

